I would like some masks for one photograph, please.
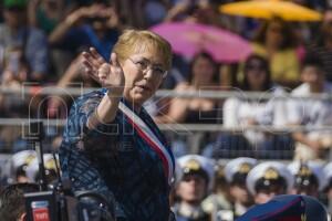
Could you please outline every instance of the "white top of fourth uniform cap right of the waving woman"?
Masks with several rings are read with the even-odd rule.
[[[305,162],[311,172],[315,176],[319,182],[319,190],[322,190],[326,186],[326,179],[323,171],[323,164],[318,161],[308,161]],[[301,162],[292,161],[288,169],[291,171],[293,176],[297,176],[300,170]]]

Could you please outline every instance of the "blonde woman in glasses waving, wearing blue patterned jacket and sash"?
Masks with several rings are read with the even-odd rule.
[[[168,220],[174,158],[142,107],[170,67],[168,42],[149,31],[125,31],[106,63],[85,52],[86,71],[103,88],[77,98],[60,160],[74,190],[115,199],[117,220]]]

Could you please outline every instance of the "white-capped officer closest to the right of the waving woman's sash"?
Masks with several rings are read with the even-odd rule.
[[[211,190],[214,183],[214,164],[210,159],[197,155],[187,155],[178,159],[183,175],[176,193],[179,201],[174,206],[177,221],[209,221],[200,203]]]

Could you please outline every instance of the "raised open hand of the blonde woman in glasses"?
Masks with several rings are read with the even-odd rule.
[[[95,49],[83,52],[83,65],[86,73],[103,87],[112,88],[112,94],[121,95],[124,90],[124,74],[115,53],[107,63]]]

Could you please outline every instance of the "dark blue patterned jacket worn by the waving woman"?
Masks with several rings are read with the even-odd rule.
[[[166,221],[170,211],[169,185],[162,160],[124,114],[118,109],[112,124],[101,124],[93,130],[86,127],[104,93],[105,90],[94,91],[74,102],[60,147],[62,175],[72,180],[75,191],[95,190],[107,199],[115,198],[117,217],[127,221]],[[167,146],[146,110],[142,108],[136,114]]]

